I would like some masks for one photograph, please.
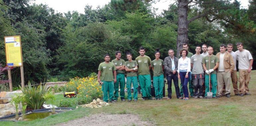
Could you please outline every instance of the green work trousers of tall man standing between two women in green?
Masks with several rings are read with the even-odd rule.
[[[149,75],[139,75],[139,83],[142,91],[142,97],[152,98],[151,97],[151,77]]]

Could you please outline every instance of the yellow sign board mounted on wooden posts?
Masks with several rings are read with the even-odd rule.
[[[20,35],[6,36],[4,37],[4,42],[5,42],[6,65],[9,67],[23,66]]]

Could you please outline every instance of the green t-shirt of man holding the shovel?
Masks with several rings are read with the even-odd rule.
[[[210,68],[209,68],[209,58],[210,58]],[[205,64],[207,70],[213,69],[215,64],[218,63],[218,62],[219,62],[219,58],[215,55],[212,55],[211,57],[205,56],[205,57],[203,57],[203,61],[202,61],[202,63]],[[212,72],[212,74],[216,74],[216,70],[214,70]]]

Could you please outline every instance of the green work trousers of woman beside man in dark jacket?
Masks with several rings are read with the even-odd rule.
[[[155,89],[155,98],[163,98],[163,88],[164,88],[164,75],[153,77],[153,86]]]

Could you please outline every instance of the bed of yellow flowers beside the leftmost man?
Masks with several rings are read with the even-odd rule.
[[[90,103],[93,99],[101,98],[103,93],[97,82],[97,77],[94,75],[79,78],[75,77],[64,85],[64,92],[77,92],[75,98],[66,98],[60,102],[59,107],[71,107]]]

